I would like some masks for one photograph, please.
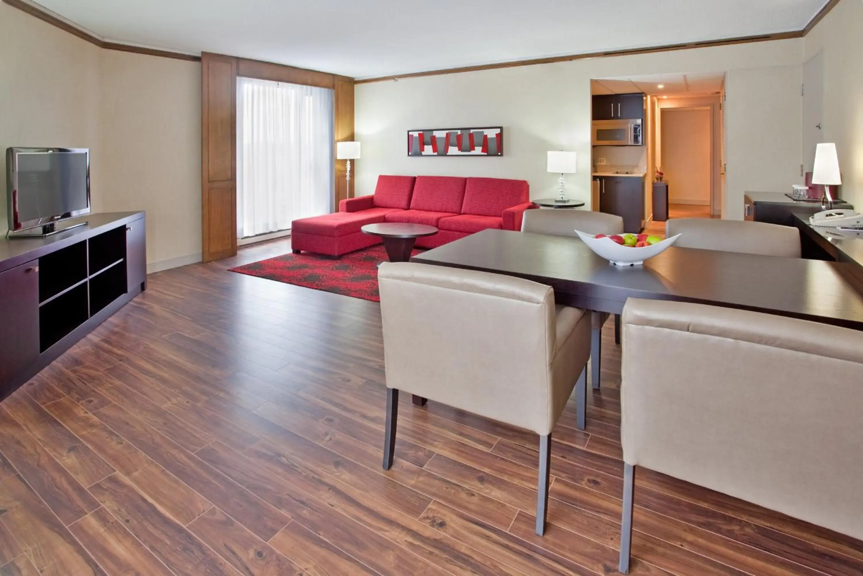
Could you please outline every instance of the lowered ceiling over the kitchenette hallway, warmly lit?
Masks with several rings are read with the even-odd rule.
[[[593,94],[644,92],[645,94],[656,96],[702,96],[721,91],[724,82],[725,72],[709,74],[654,74],[651,76],[593,80],[590,84],[590,91]],[[660,88],[660,86],[662,87]]]

